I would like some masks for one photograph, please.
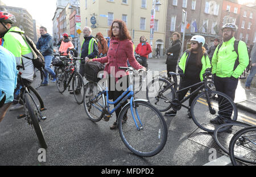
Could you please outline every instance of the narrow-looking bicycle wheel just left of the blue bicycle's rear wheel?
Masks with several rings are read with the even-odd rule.
[[[72,89],[74,92],[74,97],[77,104],[82,104],[84,102],[84,79],[82,78],[82,75],[79,73],[76,73],[73,76],[72,81]],[[78,91],[78,94],[76,93]]]

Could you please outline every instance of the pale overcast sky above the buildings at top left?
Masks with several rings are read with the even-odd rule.
[[[27,9],[36,23],[46,27],[48,33],[52,35],[52,18],[56,10],[56,0],[2,0],[2,2],[6,6]]]

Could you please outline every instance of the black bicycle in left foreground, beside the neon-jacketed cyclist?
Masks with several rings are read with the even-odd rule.
[[[18,65],[17,69],[19,70],[20,68],[23,68],[23,66]],[[39,124],[43,120],[46,120],[46,117],[42,115],[42,111],[46,110],[46,108],[44,108],[43,100],[32,86],[26,86],[23,83],[21,73],[18,74],[18,81],[22,85],[19,103],[24,105],[24,114],[19,115],[18,119],[25,117],[27,123],[34,127],[40,145],[46,149],[46,140],[44,138],[42,128]]]

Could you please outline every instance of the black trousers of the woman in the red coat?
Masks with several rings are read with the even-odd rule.
[[[109,81],[108,81],[108,87],[109,87],[109,99],[115,101],[119,98],[119,96],[121,96],[123,94],[123,92],[125,92],[127,90],[127,88],[129,87],[129,77],[128,76],[125,76],[125,77],[122,77],[122,78],[119,78],[117,82],[111,82],[111,79],[115,79],[113,77],[110,77],[109,75]],[[123,86],[122,83],[125,83],[126,82],[126,86]],[[114,90],[112,90],[111,88],[113,88],[113,83],[115,83],[115,87],[114,87]],[[119,84],[120,83],[120,84]],[[119,88],[117,88],[116,86],[120,86],[125,89],[123,90],[120,90]],[[126,94],[127,95],[127,94]],[[126,96],[125,95],[125,96]],[[122,100],[122,99],[121,99]],[[117,102],[116,104],[114,104],[114,107],[116,107],[120,102]],[[126,100],[125,102],[122,103],[121,107],[119,107],[118,109],[115,110],[115,116],[117,117],[118,119],[118,116],[119,116],[119,113],[121,112],[122,108],[128,103],[128,101]],[[127,115],[125,115],[127,116]],[[116,119],[116,121],[117,121]]]

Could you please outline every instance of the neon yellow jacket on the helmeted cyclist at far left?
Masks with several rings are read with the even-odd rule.
[[[14,54],[17,65],[22,65],[23,62],[24,69],[19,70],[22,73],[21,77],[32,82],[34,76],[34,65],[32,60],[25,57],[33,58],[34,56],[22,35],[16,32],[24,33],[24,31],[18,27],[10,28],[9,31],[6,32],[5,36],[3,36],[3,39],[5,40],[3,47]]]

